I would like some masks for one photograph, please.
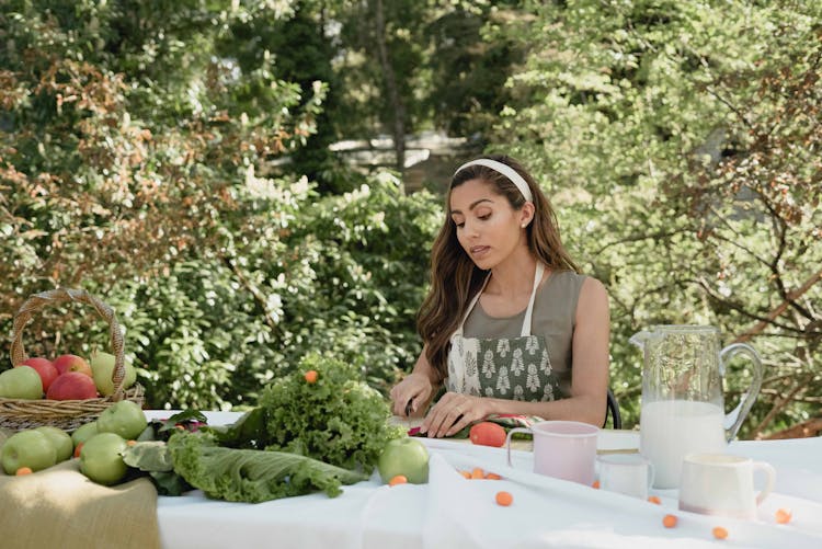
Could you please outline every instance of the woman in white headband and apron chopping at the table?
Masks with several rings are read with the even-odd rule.
[[[452,436],[490,414],[602,425],[608,387],[605,287],[580,275],[548,199],[512,158],[463,164],[432,250],[418,316],[424,347],[391,390],[393,412]]]

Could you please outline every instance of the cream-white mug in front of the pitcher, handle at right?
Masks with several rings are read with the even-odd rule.
[[[754,473],[765,487],[754,491]],[[774,489],[776,471],[764,461],[728,454],[688,454],[682,462],[680,508],[705,515],[755,518],[756,506]]]

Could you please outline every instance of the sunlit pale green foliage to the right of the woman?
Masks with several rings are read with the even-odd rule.
[[[749,435],[820,401],[818,2],[533,2],[493,148],[533,167],[564,240],[609,288],[614,382],[637,420],[653,323],[750,341]],[[729,400],[750,381],[732,364]]]

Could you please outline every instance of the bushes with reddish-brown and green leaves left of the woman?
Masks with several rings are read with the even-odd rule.
[[[323,198],[305,178],[258,175],[305,144],[327,91],[278,79],[273,54],[228,56],[246,43],[238,28],[292,16],[286,5],[10,7],[0,27],[5,333],[28,295],[79,286],[118,312],[153,407],[242,404],[316,350],[368,366],[375,385],[392,380],[419,346],[410,311],[431,197],[404,197],[383,178]],[[406,240],[389,248],[390,232]],[[105,346],[105,327],[83,312],[45,312],[26,347]]]

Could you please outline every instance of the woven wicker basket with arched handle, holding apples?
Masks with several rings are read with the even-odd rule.
[[[23,302],[14,314],[12,324],[11,363],[16,366],[27,358],[23,348],[23,328],[32,318],[32,313],[39,311],[46,306],[55,306],[65,301],[77,301],[90,305],[98,314],[109,323],[111,345],[115,357],[114,393],[110,397],[101,397],[87,400],[48,400],[48,399],[3,399],[0,398],[0,427],[12,431],[37,427],[41,425],[53,425],[66,431],[72,431],[83,423],[98,419],[98,416],[112,405],[123,399],[133,400],[142,405],[144,389],[135,384],[127,391],[123,389],[125,377],[125,356],[123,354],[123,332],[121,331],[114,310],[82,289],[58,288],[41,294],[35,294]]]

